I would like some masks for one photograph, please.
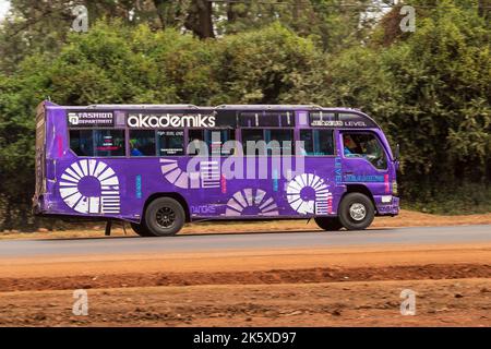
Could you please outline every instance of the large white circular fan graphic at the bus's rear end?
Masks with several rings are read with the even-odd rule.
[[[98,181],[96,193],[83,193],[83,182],[87,179]],[[99,160],[80,160],[68,167],[61,174],[60,195],[67,205],[82,214],[120,212],[118,177],[107,164]]]

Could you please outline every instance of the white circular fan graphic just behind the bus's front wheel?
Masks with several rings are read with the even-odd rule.
[[[306,195],[309,191],[310,195]],[[324,180],[312,173],[296,176],[288,183],[287,200],[291,208],[301,215],[327,215],[332,212],[333,194]]]

